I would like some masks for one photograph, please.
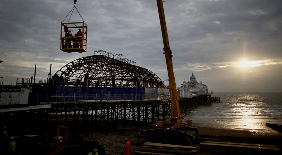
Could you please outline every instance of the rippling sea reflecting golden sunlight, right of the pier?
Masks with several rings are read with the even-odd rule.
[[[220,103],[199,106],[185,117],[202,127],[282,135],[265,124],[282,125],[282,93],[214,92],[212,96],[220,97]]]

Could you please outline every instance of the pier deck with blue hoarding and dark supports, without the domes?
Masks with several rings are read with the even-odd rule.
[[[37,86],[33,89],[50,90],[48,88],[50,87]],[[117,94],[121,90],[132,93]],[[152,88],[56,86],[53,92],[42,91],[37,98],[32,95],[30,97],[32,99],[29,100],[28,106],[0,109],[1,118],[17,116],[26,117],[26,120],[90,122],[113,127],[131,124],[138,129],[140,125],[147,128],[150,124],[163,120],[167,113],[170,113],[171,104],[169,89]],[[179,96],[179,106],[185,114],[213,101],[211,95],[198,95],[191,98]]]

